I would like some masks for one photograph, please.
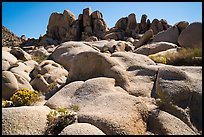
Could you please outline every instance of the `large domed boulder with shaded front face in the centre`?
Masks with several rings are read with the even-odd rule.
[[[68,81],[87,80],[100,76],[115,78],[116,85],[127,89],[128,80],[123,68],[110,57],[93,51],[82,52],[74,57]]]

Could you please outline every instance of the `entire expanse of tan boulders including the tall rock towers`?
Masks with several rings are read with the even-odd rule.
[[[109,29],[90,8],[78,19],[53,13],[37,44],[2,47],[2,100],[22,88],[42,93],[32,106],[2,108],[2,134],[46,134],[53,109],[74,107],[76,123],[59,135],[202,134],[202,67],[148,56],[201,47],[200,28],[131,13]]]

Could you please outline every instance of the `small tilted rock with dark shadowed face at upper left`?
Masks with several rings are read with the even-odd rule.
[[[31,56],[20,47],[13,47],[10,53],[16,56],[16,58],[24,61],[32,59]]]

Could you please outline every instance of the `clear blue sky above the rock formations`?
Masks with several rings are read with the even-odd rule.
[[[52,12],[68,9],[78,18],[87,7],[102,12],[109,28],[130,13],[136,14],[137,22],[142,14],[150,21],[166,19],[170,25],[179,21],[202,22],[202,2],[2,2],[2,25],[17,36],[39,38],[46,33]]]

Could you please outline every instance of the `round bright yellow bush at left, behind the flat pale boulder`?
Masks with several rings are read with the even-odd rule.
[[[10,97],[10,101],[13,102],[13,106],[30,106],[38,100],[39,100],[38,91],[29,89],[17,90]]]

